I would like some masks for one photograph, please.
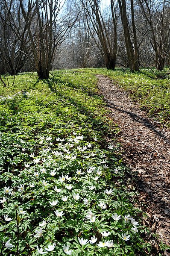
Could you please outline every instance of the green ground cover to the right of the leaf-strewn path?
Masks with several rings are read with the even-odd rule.
[[[154,68],[141,69],[140,72],[132,73],[122,68],[117,68],[115,71],[99,68],[91,69],[91,72],[109,76],[118,86],[128,91],[134,100],[138,100],[141,108],[148,115],[170,126],[169,69],[164,71],[156,71]]]

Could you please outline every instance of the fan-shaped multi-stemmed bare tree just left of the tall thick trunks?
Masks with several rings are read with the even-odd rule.
[[[103,54],[106,68],[114,70],[117,55],[117,1],[111,0],[111,13],[102,13],[100,0],[88,0],[85,9],[91,21],[88,26]]]

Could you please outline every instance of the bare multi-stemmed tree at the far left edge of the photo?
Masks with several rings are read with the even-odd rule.
[[[14,23],[15,26],[12,26]],[[28,44],[28,33],[17,1],[0,0],[0,60],[3,73],[15,75],[21,71],[28,59],[24,53],[24,45],[29,50]]]

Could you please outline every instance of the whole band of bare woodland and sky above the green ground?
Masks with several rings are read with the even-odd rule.
[[[0,74],[170,63],[169,0],[1,0]]]

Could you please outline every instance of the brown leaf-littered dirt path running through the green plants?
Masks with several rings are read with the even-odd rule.
[[[138,174],[135,185],[141,205],[147,205],[143,210],[149,216],[152,231],[170,245],[170,130],[161,129],[150,120],[139,104],[110,79],[102,75],[97,78],[100,93],[121,129],[117,137],[123,160]]]

